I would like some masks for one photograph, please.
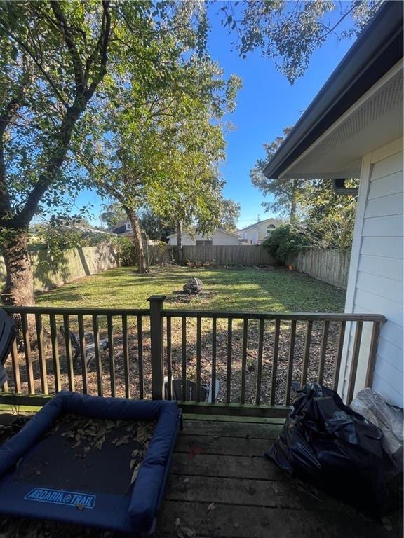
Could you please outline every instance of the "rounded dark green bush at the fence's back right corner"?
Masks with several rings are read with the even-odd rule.
[[[262,247],[281,263],[285,263],[290,254],[295,254],[309,245],[310,242],[303,230],[290,224],[275,228],[262,243]]]

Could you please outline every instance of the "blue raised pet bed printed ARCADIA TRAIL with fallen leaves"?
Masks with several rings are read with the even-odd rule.
[[[88,460],[72,456],[63,428],[52,429],[56,421],[63,424],[67,413],[129,425],[157,420],[134,484],[129,444],[104,443]],[[121,532],[153,532],[180,418],[175,401],[60,392],[0,447],[0,512]]]

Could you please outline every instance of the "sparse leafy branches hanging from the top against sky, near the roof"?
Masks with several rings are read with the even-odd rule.
[[[241,57],[260,48],[262,55],[275,60],[278,71],[294,83],[309,66],[311,54],[330,34],[351,39],[381,5],[382,0],[226,1],[222,24],[229,32],[236,32]],[[351,22],[349,29],[341,24],[346,18]]]

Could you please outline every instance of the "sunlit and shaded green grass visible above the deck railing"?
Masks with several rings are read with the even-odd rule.
[[[175,301],[190,277],[199,277],[213,294],[191,303]],[[166,295],[166,308],[248,310],[261,312],[343,312],[345,292],[318,280],[284,270],[241,271],[153,268],[137,275],[135,268],[116,268],[76,280],[36,297],[38,306],[72,308],[148,308],[151,295]]]

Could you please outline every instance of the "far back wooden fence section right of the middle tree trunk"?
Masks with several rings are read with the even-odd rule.
[[[277,265],[259,245],[201,245],[182,247],[184,260],[201,263],[215,261],[218,265]]]

